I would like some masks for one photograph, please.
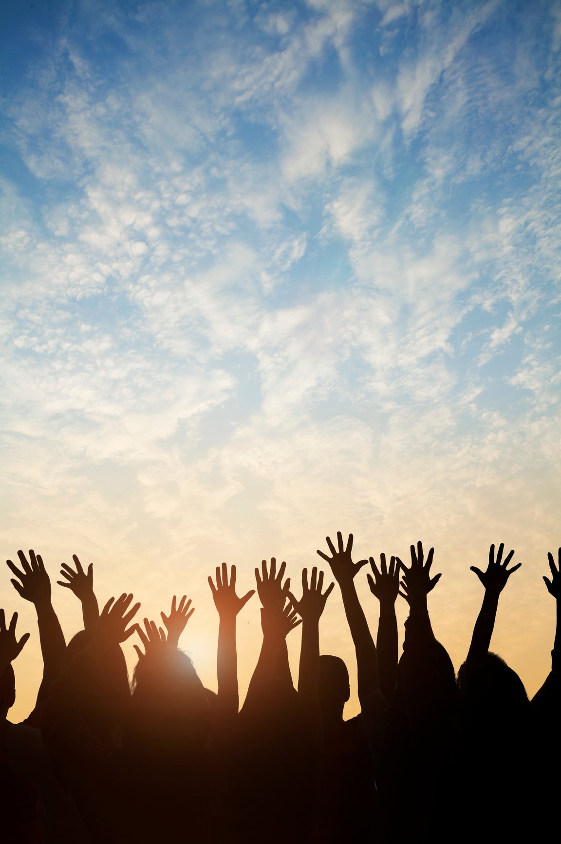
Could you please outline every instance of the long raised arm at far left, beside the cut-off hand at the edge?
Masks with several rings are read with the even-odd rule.
[[[13,588],[22,598],[34,604],[37,613],[40,648],[43,655],[43,679],[37,694],[35,704],[37,706],[44,700],[49,684],[57,679],[62,657],[66,651],[66,643],[51,603],[51,581],[41,556],[35,555],[33,550],[30,550],[30,562],[27,561],[23,551],[18,551],[18,556],[23,571],[19,571],[12,560],[6,560],[6,563],[9,570],[19,578],[12,579]]]

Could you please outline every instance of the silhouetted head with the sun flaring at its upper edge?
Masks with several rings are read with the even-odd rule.
[[[185,653],[165,647],[138,660],[125,737],[130,753],[166,758],[200,750],[209,719],[207,692]]]

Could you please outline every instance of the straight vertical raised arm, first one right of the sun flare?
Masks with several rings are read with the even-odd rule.
[[[255,594],[255,589],[245,592],[243,598],[235,593],[236,570],[232,565],[228,582],[228,567],[216,566],[216,586],[208,577],[213,592],[214,606],[218,610],[218,653],[216,673],[218,679],[218,711],[223,717],[235,717],[240,705],[238,696],[238,654],[235,646],[235,625],[238,613]]]

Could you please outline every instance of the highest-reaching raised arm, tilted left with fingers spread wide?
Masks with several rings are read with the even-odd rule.
[[[364,610],[360,606],[359,596],[354,587],[353,578],[368,560],[353,563],[351,551],[353,549],[353,534],[349,533],[347,548],[343,547],[343,536],[337,532],[338,550],[332,541],[326,537],[332,556],[328,557],[322,551],[317,553],[331,566],[333,576],[337,580],[343,598],[343,607],[347,616],[348,626],[353,637],[354,651],[357,657],[357,671],[359,679],[359,701],[363,709],[370,704],[375,695],[380,692],[380,675],[378,673],[378,657],[374,639],[370,634]]]

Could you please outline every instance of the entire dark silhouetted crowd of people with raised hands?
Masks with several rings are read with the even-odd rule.
[[[135,621],[132,594],[99,611],[93,568],[62,564],[61,587],[82,604],[84,630],[66,643],[40,555],[7,561],[12,584],[35,605],[43,676],[34,710],[8,721],[17,612],[0,609],[0,840],[6,842],[539,841],[553,837],[558,800],[561,549],[544,576],[557,605],[552,668],[529,701],[520,677],[490,652],[500,593],[514,551],[491,545],[466,661],[456,677],[434,635],[427,597],[440,579],[434,549],[411,562],[370,557],[380,605],[376,641],[359,601],[353,535],[326,538],[291,591],[286,564],[262,561],[256,588],[239,597],[235,565],[208,577],[218,611],[218,694],[205,689],[179,641],[193,609],[174,596],[169,614]],[[510,566],[510,567],[509,567]],[[348,668],[320,652],[319,625],[337,582],[353,638],[360,713],[343,720]],[[294,588],[294,587],[293,587]],[[236,619],[257,593],[262,648],[239,705]],[[401,657],[395,605],[409,614]],[[298,625],[297,689],[286,640]],[[121,643],[138,636],[129,683]]]

